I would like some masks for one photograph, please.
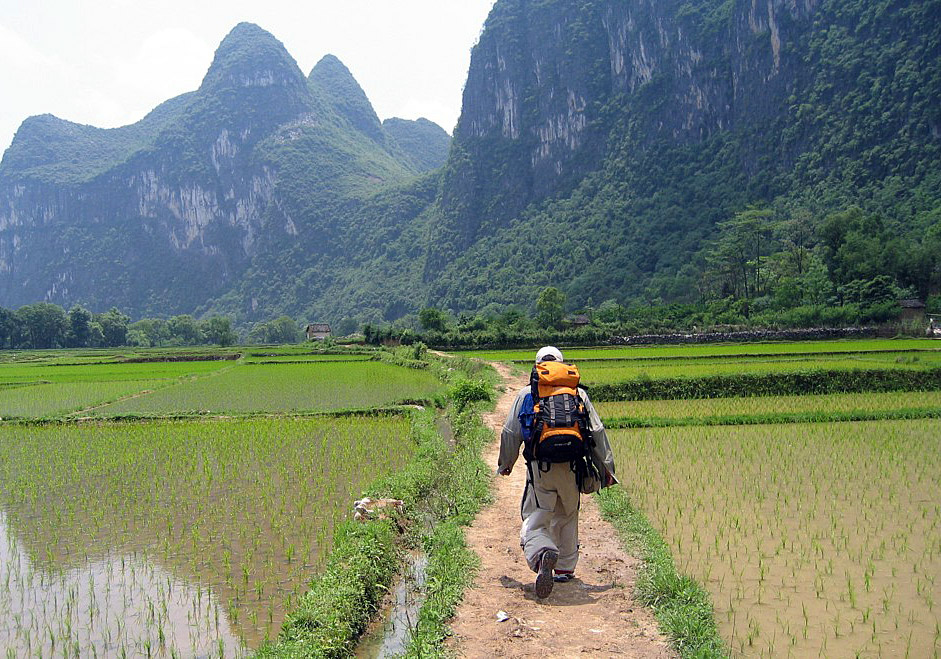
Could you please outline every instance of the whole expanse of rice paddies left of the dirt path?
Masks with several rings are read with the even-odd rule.
[[[8,657],[250,654],[411,459],[402,403],[445,386],[369,355],[178,352],[0,359]]]

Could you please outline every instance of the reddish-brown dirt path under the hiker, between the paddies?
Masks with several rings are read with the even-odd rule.
[[[484,459],[495,471],[503,421],[527,378],[513,376],[504,364],[494,367],[506,388],[485,417],[494,441]],[[545,600],[536,598],[535,574],[519,545],[525,476],[521,458],[510,476],[495,479],[494,503],[467,530],[481,569],[452,623],[452,649],[462,657],[674,656],[653,615],[631,598],[639,561],[621,548],[593,497],[582,496],[577,578],[555,584]],[[500,622],[500,611],[509,618]]]

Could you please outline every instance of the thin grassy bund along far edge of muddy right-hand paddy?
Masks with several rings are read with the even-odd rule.
[[[842,423],[847,421],[902,421],[941,419],[941,407],[855,412],[797,412],[779,414],[730,414],[727,416],[620,417],[605,419],[606,428],[670,428],[680,426],[748,426],[782,423]]]

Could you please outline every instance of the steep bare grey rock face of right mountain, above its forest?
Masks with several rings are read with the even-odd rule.
[[[444,208],[481,227],[597,169],[615,124],[698,142],[780,112],[818,0],[503,0],[474,48]]]

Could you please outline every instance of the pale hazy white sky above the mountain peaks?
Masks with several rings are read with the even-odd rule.
[[[250,21],[310,73],[332,53],[380,119],[449,133],[470,49],[494,0],[0,0],[0,152],[26,117],[111,128],[199,86],[222,38]]]

